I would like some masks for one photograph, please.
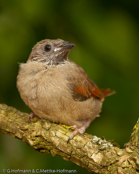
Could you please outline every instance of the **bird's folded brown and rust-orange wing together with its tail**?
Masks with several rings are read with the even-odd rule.
[[[78,71],[75,72],[75,75],[70,77],[69,83],[72,96],[78,101],[84,101],[91,97],[104,100],[105,96],[115,93],[115,91],[110,89],[99,89],[80,66],[78,66]]]

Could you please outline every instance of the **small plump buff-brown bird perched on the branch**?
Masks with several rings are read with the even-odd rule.
[[[75,45],[57,40],[42,40],[32,49],[26,63],[20,64],[17,88],[26,105],[39,118],[74,128],[71,139],[83,134],[101,111],[105,96],[86,72],[68,59]]]

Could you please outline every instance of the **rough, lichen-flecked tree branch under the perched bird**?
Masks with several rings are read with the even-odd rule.
[[[18,138],[37,151],[59,155],[88,171],[100,174],[139,173],[139,120],[124,149],[89,134],[76,135],[68,142],[72,129],[0,104],[0,131]]]

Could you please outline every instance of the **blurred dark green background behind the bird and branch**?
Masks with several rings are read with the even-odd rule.
[[[139,117],[139,1],[0,0],[0,103],[30,112],[16,88],[19,62],[26,62],[42,39],[75,43],[69,58],[81,65],[100,88],[116,90],[106,98],[101,117],[87,133],[121,147]],[[0,134],[0,173],[12,169],[75,169],[61,157],[35,151]]]

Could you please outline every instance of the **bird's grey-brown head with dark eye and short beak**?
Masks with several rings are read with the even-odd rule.
[[[29,61],[38,61],[51,65],[63,63],[68,59],[68,54],[73,43],[64,41],[62,39],[50,40],[45,39],[38,42],[33,48],[28,58]]]

